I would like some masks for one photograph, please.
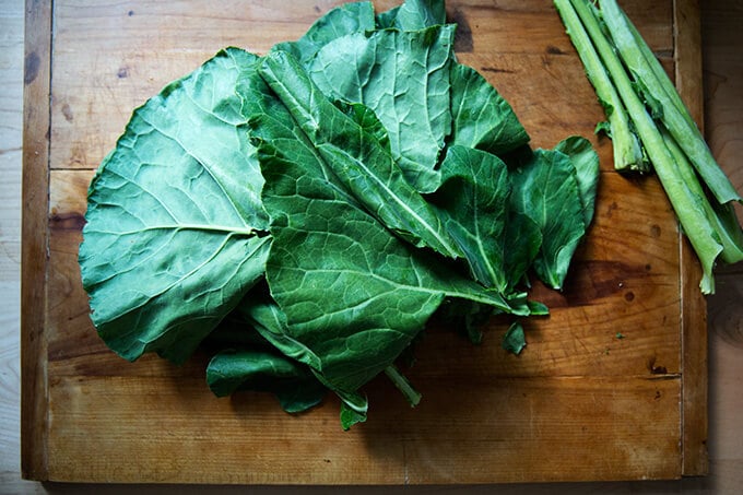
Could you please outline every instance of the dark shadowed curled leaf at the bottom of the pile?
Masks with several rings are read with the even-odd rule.
[[[327,389],[304,364],[256,350],[226,350],[207,367],[207,384],[217,397],[238,390],[273,392],[284,411],[297,413],[319,404]]]

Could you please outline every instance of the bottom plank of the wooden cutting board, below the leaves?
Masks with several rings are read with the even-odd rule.
[[[680,446],[668,435],[680,420],[679,385],[677,379],[625,377],[450,379],[437,384],[440,393],[411,410],[391,396],[391,386],[377,382],[373,397],[394,400],[377,401],[388,408],[379,408],[364,428],[341,432],[334,400],[286,420],[270,413],[275,403],[264,396],[215,403],[199,379],[179,378],[174,386],[167,377],[61,377],[50,384],[59,405],[49,444],[57,461],[49,475],[57,481],[102,481],[106,473],[110,481],[156,483],[400,485],[663,479],[679,471]],[[638,424],[638,408],[653,420]],[[201,417],[198,425],[194,414]],[[120,426],[110,427],[111,416]],[[57,422],[76,427],[54,427]],[[224,448],[225,438],[214,431],[229,432],[233,447]],[[601,448],[588,451],[586,445]],[[114,450],[116,456],[107,453]]]

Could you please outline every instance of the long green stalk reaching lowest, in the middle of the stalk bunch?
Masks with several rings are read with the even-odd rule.
[[[712,268],[717,257],[722,251],[722,246],[718,240],[719,235],[707,217],[706,208],[700,202],[701,200],[706,201],[706,199],[694,195],[679,174],[675,161],[665,145],[663,135],[648,115],[645,104],[633,87],[633,82],[625,71],[622,60],[603,35],[601,26],[589,10],[586,0],[571,0],[571,3],[599,51],[604,67],[611,74],[679,222],[699,258],[703,269],[703,279],[699,284],[701,292],[711,294],[715,292]]]

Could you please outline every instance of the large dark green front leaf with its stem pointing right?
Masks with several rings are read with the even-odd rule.
[[[322,377],[334,390],[353,392],[389,366],[447,296],[505,311],[528,310],[511,308],[432,251],[400,240],[362,207],[367,199],[350,200],[344,192],[349,180],[339,177],[344,168],[327,160],[343,158],[325,153],[323,146],[344,142],[345,153],[355,157],[347,166],[376,174],[375,167],[388,165],[364,151],[371,134],[321,103],[319,92],[292,86],[308,80],[285,54],[267,60],[261,73],[285,103],[285,113],[306,130],[305,137],[296,135],[296,128],[290,132],[278,109],[251,119],[274,238],[267,280],[291,337],[320,358]],[[331,166],[335,173],[328,174]]]

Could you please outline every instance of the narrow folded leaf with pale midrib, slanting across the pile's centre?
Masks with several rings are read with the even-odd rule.
[[[450,258],[461,256],[435,210],[408,184],[389,149],[376,139],[378,132],[367,132],[369,128],[378,129],[366,120],[371,114],[366,113],[361,125],[350,118],[285,52],[267,56],[259,72],[357,203],[413,245]],[[255,126],[257,137],[262,133],[259,127]]]

